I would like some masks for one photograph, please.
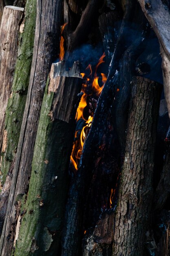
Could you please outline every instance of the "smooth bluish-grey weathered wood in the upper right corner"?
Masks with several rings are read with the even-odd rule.
[[[170,27],[170,12],[161,0],[138,1],[161,46],[164,91],[170,117],[170,34],[167,32]]]

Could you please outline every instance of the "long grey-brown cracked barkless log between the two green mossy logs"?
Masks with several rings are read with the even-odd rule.
[[[58,49],[57,46],[59,45],[60,39],[61,13],[62,0],[55,0],[53,2],[49,0],[37,1],[35,47],[33,49],[29,90],[9,194],[7,216],[0,239],[1,255],[11,254],[15,236],[15,224],[20,211],[18,209],[17,214],[15,214],[16,209],[14,204],[17,195],[27,193],[28,178],[31,174],[33,148],[46,79],[51,63],[57,57],[56,49]],[[10,233],[12,225],[13,228]],[[9,237],[9,240],[7,240],[7,237]]]

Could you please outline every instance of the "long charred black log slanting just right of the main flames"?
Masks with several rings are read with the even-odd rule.
[[[71,185],[71,189],[69,191],[68,203],[66,206],[66,220],[63,231],[62,256],[80,254],[80,244],[82,239],[81,235],[83,234],[82,216],[85,208],[86,196],[88,194],[90,184],[89,181],[93,176],[96,152],[101,145],[106,119],[108,117],[108,110],[113,104],[117,89],[119,72],[116,70],[119,70],[119,59],[124,54],[125,50],[132,44],[131,40],[129,40],[126,44],[124,43],[125,38],[123,32],[129,29],[126,24],[127,21],[130,22],[132,20],[137,20],[139,22],[137,24],[139,26],[138,28],[140,29],[139,31],[141,31],[140,33],[142,33],[144,29],[143,26],[145,26],[144,15],[142,12],[141,16],[139,16],[140,12],[137,12],[137,17],[134,17],[134,6],[137,10],[140,9],[140,6],[136,1],[127,2],[127,13],[125,14],[124,22],[122,23],[120,29],[121,32],[115,49],[115,54],[113,55],[113,59],[110,64],[111,67],[108,80],[97,103],[97,109],[95,110],[91,129],[84,143],[84,149],[80,159],[77,177],[75,177],[75,180],[73,180],[73,184]],[[139,31],[137,31],[138,35]]]

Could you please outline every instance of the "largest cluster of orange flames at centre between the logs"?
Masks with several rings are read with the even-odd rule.
[[[73,150],[72,150],[72,154],[71,154],[71,162],[72,162],[73,166],[75,167],[75,170],[78,169],[79,159],[82,155],[82,150],[83,150],[83,145],[84,145],[84,141],[85,141],[85,137],[86,137],[86,132],[91,127],[91,123],[93,121],[93,116],[91,116],[90,114],[89,114],[88,119],[85,119],[84,116],[83,116],[83,111],[84,111],[84,108],[87,106],[87,98],[88,98],[88,95],[86,94],[86,88],[87,88],[88,85],[89,86],[91,85],[92,92],[97,97],[99,97],[99,95],[101,94],[102,89],[104,87],[104,84],[106,83],[107,77],[104,73],[101,73],[102,84],[103,85],[100,87],[99,83],[98,83],[99,76],[97,76],[97,68],[99,67],[100,64],[104,63],[104,60],[103,60],[104,57],[105,57],[105,53],[102,55],[101,58],[99,58],[99,61],[98,61],[97,65],[96,65],[96,68],[95,68],[95,74],[94,74],[93,79],[91,79],[92,74],[93,74],[91,64],[89,64],[88,67],[86,67],[86,70],[89,70],[90,74],[88,74],[88,77],[86,77],[85,83],[83,83],[83,85],[82,85],[82,92],[84,94],[82,95],[82,98],[79,102],[79,106],[77,108],[77,115],[76,115],[76,118],[75,118],[76,121],[78,121],[81,118],[84,119],[86,121],[86,124],[85,124],[85,126],[83,127],[83,129],[81,131],[79,139],[75,140],[75,142],[73,144]],[[85,76],[87,76],[87,75],[86,75],[86,73],[81,73],[81,76],[82,76],[82,78],[85,78]],[[92,95],[92,94],[90,94],[90,95]],[[75,139],[77,138],[77,134],[78,134],[78,131],[75,132]]]

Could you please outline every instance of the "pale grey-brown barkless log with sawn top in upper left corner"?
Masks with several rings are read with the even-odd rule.
[[[18,25],[23,8],[4,7],[0,26],[0,149],[4,130],[4,118],[11,86],[18,49]]]

